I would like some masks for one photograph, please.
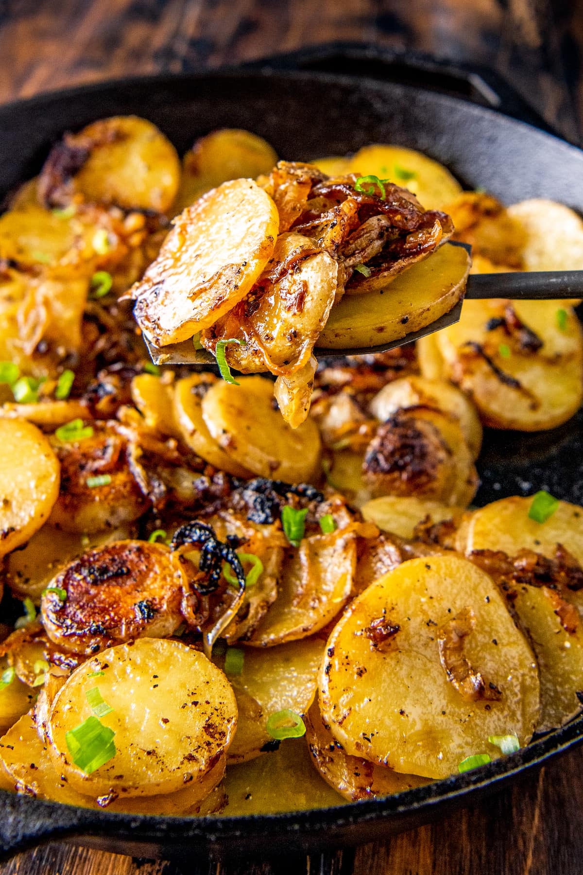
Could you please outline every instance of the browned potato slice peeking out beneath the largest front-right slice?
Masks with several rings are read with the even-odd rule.
[[[323,724],[317,702],[309,709],[304,722],[312,762],[324,781],[349,802],[391,796],[427,784],[424,778],[416,774],[400,774],[361,757],[349,756]]]

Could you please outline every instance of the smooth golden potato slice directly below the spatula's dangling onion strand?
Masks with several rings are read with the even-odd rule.
[[[211,436],[238,465],[260,477],[309,481],[320,461],[320,435],[308,419],[292,429],[274,406],[274,386],[260,376],[216,382],[202,402]]]

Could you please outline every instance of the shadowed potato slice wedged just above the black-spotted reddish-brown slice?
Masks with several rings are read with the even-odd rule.
[[[38,605],[40,595],[55,576],[57,569],[80,556],[86,549],[128,537],[127,528],[106,529],[91,537],[79,532],[66,532],[45,522],[21,549],[6,558],[6,583],[20,598],[31,598]]]

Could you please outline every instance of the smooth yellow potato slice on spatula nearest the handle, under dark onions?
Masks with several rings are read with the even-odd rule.
[[[317,345],[327,349],[379,346],[419,331],[463,297],[468,270],[465,249],[442,246],[396,276],[384,290],[344,296],[332,307]]]

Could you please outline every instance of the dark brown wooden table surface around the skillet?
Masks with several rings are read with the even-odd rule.
[[[123,74],[188,71],[357,39],[495,67],[577,141],[583,131],[583,0],[555,0],[552,9],[542,0],[0,0],[0,102]],[[188,872],[580,875],[583,751],[488,802],[385,844],[239,866],[193,861]],[[16,873],[180,871],[172,863],[61,844],[0,865],[0,875]]]

